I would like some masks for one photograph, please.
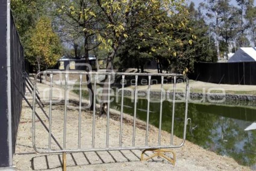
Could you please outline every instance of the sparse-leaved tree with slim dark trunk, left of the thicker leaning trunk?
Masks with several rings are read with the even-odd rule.
[[[54,0],[53,16],[58,23],[58,32],[64,34],[67,41],[73,42],[75,55],[77,56],[77,48],[81,37],[83,37],[84,57],[86,63],[89,64],[89,51],[97,48],[101,41],[95,40],[100,22],[96,19],[97,5],[94,1],[70,1],[70,0]],[[89,71],[89,68],[86,69]],[[86,75],[88,89],[90,89],[90,109],[93,110],[94,92],[90,76]]]

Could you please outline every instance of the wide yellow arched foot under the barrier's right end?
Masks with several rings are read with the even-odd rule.
[[[155,152],[154,154],[152,154],[151,156],[148,156],[146,158],[144,158],[144,154],[146,151],[153,151]],[[173,159],[166,156],[164,153],[172,153],[173,154]],[[160,157],[163,157],[165,158],[166,160],[168,160],[170,163],[173,164],[173,166],[175,166],[175,161],[176,161],[176,154],[174,151],[172,150],[167,150],[167,149],[146,149],[146,150],[143,150],[142,153],[141,153],[141,158],[140,158],[140,161],[147,161],[153,157],[156,157],[156,156],[160,156]]]

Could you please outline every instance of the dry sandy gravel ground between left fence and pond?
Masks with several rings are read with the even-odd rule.
[[[48,85],[38,84],[40,96],[43,95],[43,89]],[[57,86],[56,86],[57,87]],[[64,96],[64,91],[53,92],[53,99],[59,95]],[[27,98],[32,102],[32,96],[27,94]],[[77,149],[78,142],[78,96],[70,92],[70,107],[67,109],[67,149]],[[37,108],[39,116],[48,127],[48,120],[45,115]],[[45,105],[45,111],[48,113],[48,106]],[[61,154],[36,154],[32,147],[31,134],[31,109],[23,101],[23,109],[18,128],[16,151],[14,154],[14,165],[17,170],[61,170]],[[59,102],[52,106],[52,134],[56,137],[60,145],[63,145],[63,117],[64,103]],[[119,112],[111,110],[110,118],[110,147],[117,147],[119,144]],[[145,144],[145,122],[136,120],[136,146]],[[90,148],[92,137],[92,112],[82,111],[82,132],[81,147]],[[123,121],[123,146],[132,145],[133,117],[124,115]],[[95,147],[104,147],[106,141],[106,118],[96,118]],[[179,144],[182,140],[174,137],[174,144]],[[149,127],[149,145],[157,145],[158,128]],[[39,121],[36,121],[36,146],[38,150],[48,148],[48,132]],[[161,145],[170,144],[170,134],[162,131]],[[52,149],[58,149],[58,146],[52,140]],[[67,170],[249,170],[248,167],[241,166],[235,160],[226,156],[217,155],[214,152],[205,150],[195,144],[186,141],[185,145],[179,149],[173,149],[176,153],[176,164],[173,166],[166,160],[154,158],[148,162],[140,162],[140,150],[127,151],[103,151],[103,152],[85,152],[67,154]],[[150,155],[151,153],[146,153]]]

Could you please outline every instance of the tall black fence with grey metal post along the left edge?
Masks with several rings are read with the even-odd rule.
[[[23,48],[7,2],[0,3],[0,167],[12,165],[25,91]]]

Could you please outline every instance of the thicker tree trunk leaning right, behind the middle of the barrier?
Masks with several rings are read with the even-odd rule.
[[[113,49],[112,52],[108,54],[106,72],[112,72],[112,69],[113,69],[113,60],[117,52],[117,46],[113,44],[112,49]],[[108,111],[108,75],[106,75],[104,79],[99,116],[106,115],[107,111]]]

